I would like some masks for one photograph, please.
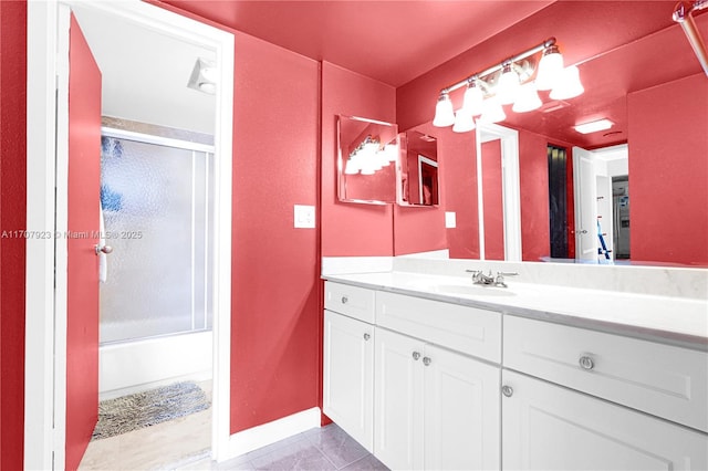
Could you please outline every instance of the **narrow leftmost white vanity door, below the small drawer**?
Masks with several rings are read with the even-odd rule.
[[[374,444],[374,327],[324,312],[323,411],[369,452]]]

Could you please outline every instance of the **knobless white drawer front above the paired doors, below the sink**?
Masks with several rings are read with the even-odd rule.
[[[501,360],[498,312],[378,292],[376,324],[490,362]]]

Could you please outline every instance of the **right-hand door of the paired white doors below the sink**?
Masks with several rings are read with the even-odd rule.
[[[499,469],[500,370],[426,345],[425,469]]]

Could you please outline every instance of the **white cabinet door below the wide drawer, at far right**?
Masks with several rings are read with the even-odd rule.
[[[509,370],[502,384],[503,469],[708,469],[704,433]]]

